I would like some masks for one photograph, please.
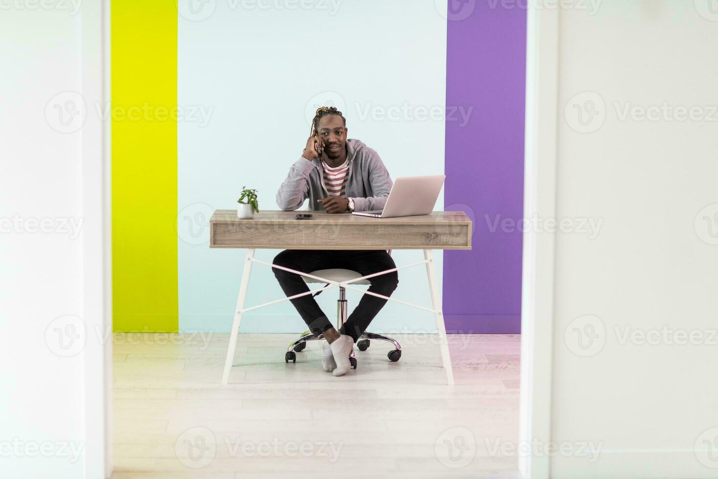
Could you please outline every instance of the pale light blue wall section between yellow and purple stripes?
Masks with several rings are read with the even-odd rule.
[[[210,250],[207,220],[215,208],[236,209],[244,185],[258,190],[260,209],[279,209],[274,195],[299,158],[320,104],[331,101],[344,112],[349,137],[376,149],[391,177],[444,172],[444,117],[414,118],[417,108],[421,114],[445,101],[446,19],[434,1],[407,8],[408,2],[344,0],[333,15],[235,3],[231,9],[219,1],[200,22],[180,18],[178,103],[213,108],[206,126],[178,121],[182,331],[230,330],[246,250]],[[362,117],[368,107],[380,114]],[[442,207],[443,192],[436,209]],[[277,253],[257,250],[257,257],[271,261]],[[443,255],[434,254],[441,285]],[[401,266],[423,254],[393,251],[393,258]],[[247,306],[281,297],[271,269],[254,264]],[[429,307],[424,266],[399,271],[393,297]],[[330,318],[336,298],[336,289],[317,297]],[[348,291],[350,311],[359,298]],[[371,326],[434,329],[430,313],[391,302]],[[299,332],[304,322],[283,302],[248,313],[241,330]]]

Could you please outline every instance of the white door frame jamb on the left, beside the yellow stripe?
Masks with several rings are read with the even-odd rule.
[[[81,88],[87,114],[80,129],[82,147],[81,210],[84,476],[112,474],[112,256],[110,127],[93,114],[110,100],[110,6],[85,0],[80,8]],[[109,334],[109,335],[108,335]],[[103,338],[108,338],[107,343]]]

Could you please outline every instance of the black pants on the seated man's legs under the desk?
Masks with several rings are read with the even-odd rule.
[[[312,271],[318,269],[351,269],[357,271],[362,276],[386,269],[396,268],[394,260],[383,250],[361,250],[361,251],[329,251],[329,250],[297,250],[286,249],[274,258],[274,264],[284,266],[285,268],[296,269],[302,273],[311,274]],[[309,286],[304,282],[299,274],[290,273],[283,269],[272,268],[274,276],[284,294],[294,296],[309,291]],[[396,271],[391,273],[380,274],[369,278],[371,282],[368,291],[383,294],[383,296],[391,296],[398,284],[398,274]],[[302,297],[290,299],[294,307],[297,308],[299,315],[302,316],[304,322],[309,326],[309,330],[318,336],[330,329],[332,323],[322,312],[317,301],[312,294],[306,294]],[[350,335],[356,343],[362,333],[369,326],[371,320],[377,315],[379,310],[386,304],[386,299],[372,296],[371,294],[363,294],[357,307],[347,318],[347,322],[342,325],[340,333]]]

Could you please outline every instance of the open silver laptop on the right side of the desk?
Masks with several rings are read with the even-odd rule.
[[[353,214],[374,218],[428,215],[437,204],[445,178],[446,175],[397,178],[383,210],[355,211]]]

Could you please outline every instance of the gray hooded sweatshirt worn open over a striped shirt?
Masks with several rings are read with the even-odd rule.
[[[347,197],[354,200],[355,211],[381,210],[393,182],[379,155],[357,139],[347,140]],[[322,159],[311,162],[299,157],[276,192],[276,204],[283,211],[296,210],[309,197],[309,210],[323,211],[320,198],[329,196],[322,175]]]

